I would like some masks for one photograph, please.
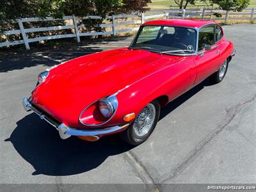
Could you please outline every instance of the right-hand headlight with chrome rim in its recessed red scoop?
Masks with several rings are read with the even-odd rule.
[[[117,106],[118,100],[115,95],[99,99],[82,111],[79,122],[90,126],[106,124],[115,115]]]

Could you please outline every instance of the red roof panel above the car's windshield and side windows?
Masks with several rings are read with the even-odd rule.
[[[200,19],[163,19],[163,20],[152,20],[145,22],[143,26],[182,26],[189,28],[201,28],[207,24],[216,24],[211,20],[200,20]]]

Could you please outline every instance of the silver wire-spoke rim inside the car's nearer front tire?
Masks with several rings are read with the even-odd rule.
[[[147,104],[134,120],[133,129],[137,136],[144,136],[150,131],[156,118],[156,108],[154,104]]]

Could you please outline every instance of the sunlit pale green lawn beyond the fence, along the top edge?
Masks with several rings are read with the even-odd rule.
[[[203,4],[203,3],[198,1],[197,4]],[[148,4],[151,10],[169,9],[170,5],[177,5],[177,4],[175,4],[173,0],[152,0],[152,3]],[[248,7],[256,8],[256,0],[251,0],[250,5]]]

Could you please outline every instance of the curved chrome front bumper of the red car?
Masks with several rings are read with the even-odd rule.
[[[127,126],[129,125],[129,124],[115,125],[113,127],[107,127],[105,129],[92,130],[92,131],[81,130],[81,129],[68,127],[65,124],[59,124],[58,122],[55,122],[54,120],[52,120],[52,118],[50,118],[47,115],[42,114],[40,111],[38,111],[38,109],[34,108],[30,102],[30,99],[28,99],[26,97],[24,97],[22,99],[22,104],[23,104],[25,111],[32,110],[38,116],[40,116],[41,119],[45,120],[46,122],[51,124],[53,127],[55,127],[58,130],[61,139],[63,139],[63,140],[69,138],[72,135],[74,135],[74,136],[99,136],[99,135],[102,136],[104,134],[110,134],[110,133],[122,131],[125,128],[127,128]]]

